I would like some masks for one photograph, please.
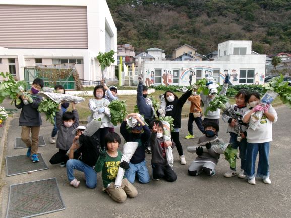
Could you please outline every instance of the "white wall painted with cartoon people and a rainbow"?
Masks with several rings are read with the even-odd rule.
[[[199,65],[195,66],[190,61],[163,61],[163,63],[148,61],[144,64],[146,67],[145,85],[191,86],[197,80],[208,76],[212,76],[218,83],[222,84],[227,74],[230,75],[229,84],[231,85],[264,84],[265,61],[261,61],[261,64],[258,64],[258,62],[256,64],[234,64],[227,63],[227,61],[199,62],[207,64],[198,63]]]

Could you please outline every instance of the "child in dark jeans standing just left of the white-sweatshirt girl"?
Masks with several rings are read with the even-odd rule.
[[[235,114],[238,119],[231,118],[225,113],[222,114],[222,119],[224,122],[229,123],[227,132],[230,134],[229,143],[232,144],[232,148],[240,150],[241,159],[241,171],[239,173],[239,178],[245,178],[244,169],[246,164],[246,151],[247,151],[247,124],[243,122],[243,116],[248,111],[246,102],[248,99],[248,92],[246,90],[240,90],[235,96],[236,104],[231,105],[234,109]],[[236,159],[235,159],[236,162]],[[230,167],[230,170],[224,174],[225,177],[232,177],[237,175],[236,167]]]

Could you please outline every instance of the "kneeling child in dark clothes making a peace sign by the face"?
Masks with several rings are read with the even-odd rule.
[[[168,146],[174,147],[173,141],[164,141],[163,123],[154,121],[150,138],[152,150],[153,180],[164,178],[168,182],[177,180],[177,175],[167,161],[165,149]]]

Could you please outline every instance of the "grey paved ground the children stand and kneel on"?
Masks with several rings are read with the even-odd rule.
[[[4,105],[5,104],[5,105]],[[7,102],[2,106],[13,108]],[[5,157],[26,154],[26,149],[14,149],[14,138],[20,137],[21,128],[18,126],[20,112],[9,119],[2,127],[0,151],[3,151],[1,171],[1,202],[2,217],[6,215],[9,186],[29,181],[36,181],[55,177],[66,209],[41,217],[291,217],[291,171],[290,168],[290,112],[285,106],[276,108],[278,122],[273,124],[273,142],[270,151],[270,179],[271,185],[266,185],[257,179],[256,185],[250,185],[245,179],[238,177],[225,178],[223,174],[228,170],[228,162],[221,155],[217,165],[217,173],[213,177],[199,175],[190,177],[187,169],[196,154],[186,151],[187,146],[197,143],[201,135],[194,124],[195,138],[186,140],[187,118],[182,121],[180,132],[181,143],[186,156],[186,165],[180,165],[177,150],[174,149],[174,171],[177,173],[176,182],[163,180],[150,181],[149,184],[134,183],[138,196],[127,199],[123,204],[115,203],[101,191],[102,181],[97,174],[98,184],[95,189],[85,187],[83,174],[76,172],[81,181],[79,188],[72,187],[67,179],[66,168],[51,165],[49,159],[57,152],[55,144],[49,143],[52,125],[43,118],[40,135],[44,136],[45,147],[40,147],[48,170],[31,174],[21,174],[6,177]],[[226,124],[220,120],[219,137],[229,140]],[[119,132],[119,128],[116,129]],[[0,158],[0,159],[1,159]],[[151,175],[151,155],[146,155],[148,169]],[[240,166],[240,165],[239,165]]]

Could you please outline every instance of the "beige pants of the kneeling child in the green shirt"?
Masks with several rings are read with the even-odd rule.
[[[129,197],[137,196],[136,188],[126,178],[122,180],[120,188],[115,188],[114,182],[112,182],[105,191],[113,200],[119,203],[124,202],[127,195]]]

